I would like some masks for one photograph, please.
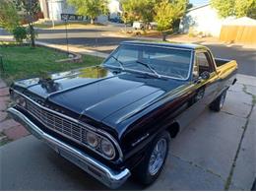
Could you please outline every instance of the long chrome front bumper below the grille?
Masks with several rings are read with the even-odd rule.
[[[72,161],[86,172],[94,176],[97,180],[106,186],[114,189],[122,185],[130,176],[129,169],[125,168],[122,171],[115,171],[105,166],[98,160],[94,160],[82,151],[63,143],[62,141],[53,138],[47,133],[43,132],[36,126],[26,115],[16,108],[9,108],[7,110],[12,117],[23,124],[36,138],[43,140],[50,147],[52,147],[60,156]]]

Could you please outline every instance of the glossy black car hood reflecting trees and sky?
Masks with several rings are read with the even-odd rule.
[[[181,83],[142,74],[115,74],[102,67],[53,74],[16,83],[27,95],[40,96],[80,115],[115,126]],[[120,115],[118,115],[118,111]],[[113,114],[113,118],[111,118]]]

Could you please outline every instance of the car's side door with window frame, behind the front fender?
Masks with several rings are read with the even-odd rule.
[[[204,77],[205,74],[208,78]],[[196,119],[217,95],[218,75],[208,50],[195,51],[192,76],[192,96],[188,108],[176,119],[181,129]]]

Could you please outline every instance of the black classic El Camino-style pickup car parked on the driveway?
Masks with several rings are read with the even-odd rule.
[[[15,82],[8,111],[106,186],[130,175],[148,185],[170,139],[207,106],[222,109],[236,72],[206,46],[125,41],[99,66]]]

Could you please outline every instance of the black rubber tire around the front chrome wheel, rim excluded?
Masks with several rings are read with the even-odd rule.
[[[166,152],[163,158],[163,161],[161,162],[160,168],[157,170],[156,173],[152,174],[150,172],[150,160],[153,155],[153,152],[159,142],[162,141],[166,142]],[[133,177],[135,178],[135,181],[139,182],[140,184],[143,185],[150,185],[153,183],[158,176],[160,175],[160,171],[162,167],[164,166],[165,160],[168,155],[168,149],[169,149],[169,141],[170,141],[170,136],[167,131],[161,132],[155,139],[154,141],[150,144],[150,147],[146,153],[146,156],[144,160],[140,162],[140,164],[137,165],[137,167],[133,170]]]

